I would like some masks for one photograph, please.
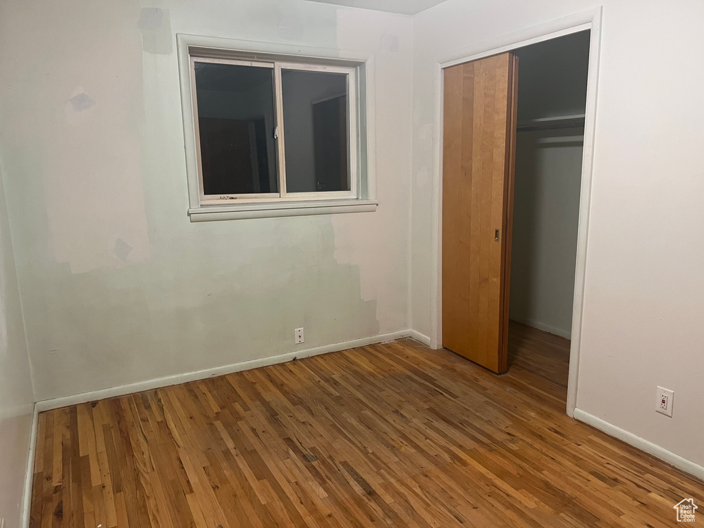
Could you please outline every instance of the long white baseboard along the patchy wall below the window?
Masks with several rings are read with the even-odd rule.
[[[232,372],[241,372],[242,370],[251,370],[258,367],[266,367],[275,365],[276,363],[286,363],[294,358],[310,358],[328,352],[337,352],[348,348],[357,348],[358,346],[366,346],[375,343],[383,343],[384,341],[394,341],[394,339],[402,339],[403,337],[413,337],[412,330],[399,330],[389,334],[378,334],[372,337],[363,337],[362,339],[353,339],[351,341],[343,341],[332,345],[318,346],[308,348],[307,350],[287,352],[277,356],[268,356],[267,358],[254,359],[243,361],[241,363],[233,363],[232,365],[224,365],[222,367],[214,367],[205,370],[196,370],[195,372],[187,372],[185,374],[177,374],[173,376],[165,376],[155,379],[148,379],[144,382],[130,383],[110,387],[109,389],[100,389],[97,391],[83,392],[73,396],[61,396],[59,398],[51,398],[42,400],[36,403],[35,409],[39,412],[44,410],[58,409],[61,407],[74,406],[79,403],[87,403],[89,401],[103,400],[105,398],[114,398],[115,396],[125,396],[134,392],[149,391],[152,389],[160,389],[164,386],[177,385],[187,382],[195,382],[199,379],[207,379],[209,377],[222,376],[232,374]],[[418,334],[420,336],[420,334]],[[417,338],[414,338],[417,339]],[[427,338],[426,338],[427,339]],[[420,341],[420,339],[418,339]]]

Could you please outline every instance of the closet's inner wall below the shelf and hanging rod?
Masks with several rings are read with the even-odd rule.
[[[582,132],[520,132],[516,141],[510,318],[568,339],[577,265]]]

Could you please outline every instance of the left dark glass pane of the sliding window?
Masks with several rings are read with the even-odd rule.
[[[195,63],[203,192],[278,192],[271,68]]]

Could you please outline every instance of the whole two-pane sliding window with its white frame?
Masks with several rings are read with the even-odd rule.
[[[206,37],[179,35],[191,220],[225,210],[375,208],[360,127],[365,63],[206,48],[187,37]],[[327,209],[291,212],[301,208]],[[282,214],[257,214],[267,215]],[[243,216],[252,215],[230,218]]]

